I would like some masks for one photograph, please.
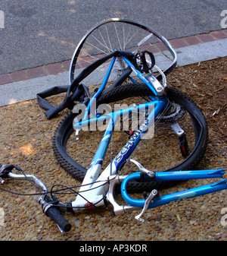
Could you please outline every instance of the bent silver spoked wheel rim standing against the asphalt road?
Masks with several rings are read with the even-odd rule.
[[[95,25],[82,37],[71,60],[70,84],[84,68],[116,49],[133,53],[145,50],[152,52],[157,66],[165,71],[165,74],[169,74],[176,66],[176,53],[163,36],[151,27],[136,21],[112,18]],[[89,92],[93,92],[94,87],[101,84],[109,65],[110,59],[96,68],[92,74],[87,75],[82,81],[82,84],[89,87]],[[112,83],[116,81],[126,71],[126,66],[122,59],[117,58],[109,81]],[[132,71],[132,76],[133,74]],[[129,83],[129,81],[126,81],[126,83]]]

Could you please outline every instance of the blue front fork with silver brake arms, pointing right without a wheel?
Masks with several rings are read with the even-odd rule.
[[[194,171],[176,171],[176,172],[151,172],[145,167],[141,166],[135,160],[128,160],[129,163],[134,163],[140,172],[132,173],[127,176],[117,176],[110,182],[110,188],[107,193],[107,201],[113,206],[113,213],[118,215],[120,213],[126,213],[127,211],[138,210],[142,208],[141,213],[135,216],[135,219],[144,222],[141,218],[145,214],[145,211],[161,206],[163,204],[169,204],[171,201],[177,201],[184,198],[193,198],[201,196],[208,193],[213,193],[216,191],[221,191],[227,189],[227,179],[222,179],[219,182],[204,185],[197,188],[191,188],[185,191],[179,191],[173,194],[165,194],[160,196],[159,192],[154,189],[151,191],[148,197],[145,199],[134,199],[127,193],[126,187],[129,181],[139,180],[141,178],[141,173],[145,175],[145,179],[152,180],[153,182],[163,182],[163,181],[176,181],[176,180],[188,180],[188,179],[214,179],[222,178],[225,173],[224,169],[211,169],[211,170],[194,170]],[[112,178],[112,177],[109,177]],[[122,182],[122,183],[121,183]],[[121,194],[123,199],[128,205],[120,206],[117,204],[114,198],[114,188],[117,184],[121,183]]]

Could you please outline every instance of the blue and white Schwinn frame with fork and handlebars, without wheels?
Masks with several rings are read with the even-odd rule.
[[[68,232],[70,230],[70,223],[67,223],[64,220],[64,217],[61,216],[60,210],[68,210],[73,211],[88,209],[89,207],[104,207],[107,204],[111,204],[113,206],[113,213],[115,215],[125,213],[126,211],[138,210],[142,208],[141,213],[135,216],[135,219],[144,221],[141,216],[145,213],[145,210],[161,206],[163,204],[168,204],[171,201],[177,201],[183,198],[193,198],[203,194],[212,193],[215,191],[220,191],[223,189],[227,189],[227,179],[222,179],[219,182],[204,185],[197,188],[191,188],[185,191],[179,191],[173,194],[166,194],[159,196],[158,191],[156,189],[151,191],[151,194],[145,199],[133,199],[127,193],[127,184],[132,180],[140,179],[141,174],[145,180],[149,182],[160,182],[160,181],[176,181],[176,180],[188,180],[188,179],[211,179],[211,178],[222,178],[222,175],[225,173],[224,169],[217,170],[194,170],[194,171],[177,171],[177,172],[151,172],[148,169],[145,169],[135,160],[130,159],[133,150],[138,145],[141,139],[144,139],[149,128],[154,128],[154,120],[157,118],[157,115],[163,111],[163,109],[168,106],[168,99],[164,92],[165,87],[165,77],[163,77],[163,85],[157,81],[156,77],[145,77],[144,74],[141,74],[140,71],[136,70],[129,60],[121,56],[123,60],[132,68],[133,71],[137,74],[137,76],[143,81],[148,87],[151,89],[154,96],[151,96],[151,101],[148,103],[144,103],[138,106],[130,106],[126,109],[120,109],[115,112],[110,112],[105,115],[96,115],[94,109],[92,109],[92,104],[98,98],[102,90],[104,90],[108,77],[110,76],[111,69],[113,68],[113,64],[116,60],[116,56],[113,56],[113,60],[110,63],[110,68],[107,71],[107,75],[104,78],[103,84],[100,89],[95,93],[95,96],[89,102],[88,108],[86,109],[86,113],[83,116],[82,122],[73,122],[73,128],[76,131],[86,127],[88,124],[92,124],[92,122],[103,122],[107,120],[107,128],[104,131],[104,136],[102,137],[101,143],[98,147],[98,150],[95,153],[95,156],[92,160],[92,163],[86,172],[86,176],[80,186],[78,192],[76,192],[76,200],[70,202],[68,204],[63,204],[58,201],[57,198],[48,197],[48,188],[33,175],[18,175],[11,172],[12,169],[17,169],[21,171],[18,166],[1,166],[0,165],[0,182],[4,184],[4,180],[2,178],[10,177],[11,179],[28,179],[30,182],[34,183],[38,188],[42,189],[42,193],[39,197],[39,204],[42,204],[42,210],[45,215],[49,216],[52,220],[54,220],[57,224],[61,232]],[[162,76],[163,73],[160,74]],[[161,87],[162,90],[159,90]],[[163,91],[163,93],[162,93]],[[161,95],[159,95],[161,93]],[[96,108],[95,108],[96,109]],[[150,110],[147,112],[148,115],[145,120],[139,123],[138,129],[134,131],[132,136],[129,138],[129,141],[123,146],[122,150],[115,156],[113,160],[111,160],[110,164],[101,172],[101,166],[104,161],[105,153],[107,152],[107,147],[110,144],[110,139],[113,134],[113,129],[117,124],[117,120],[120,119],[120,116],[128,114],[129,112],[137,111],[143,112]],[[88,119],[89,114],[93,114],[92,118]],[[152,134],[152,133],[151,133]],[[119,175],[120,169],[124,163],[134,163],[139,172],[134,172],[130,175]],[[100,174],[101,172],[101,174]],[[126,201],[126,205],[119,205],[114,197],[115,187],[116,185],[121,185],[121,194],[123,199]]]

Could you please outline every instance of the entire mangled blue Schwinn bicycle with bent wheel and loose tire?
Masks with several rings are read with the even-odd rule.
[[[61,166],[82,181],[75,190],[65,188],[76,200],[59,202],[33,175],[14,174],[14,166],[3,166],[2,178],[35,182],[42,189],[39,203],[45,214],[62,231],[70,230],[62,210],[111,204],[113,213],[120,214],[141,208],[135,217],[144,221],[149,208],[227,188],[222,179],[174,194],[158,192],[166,182],[222,178],[225,173],[194,170],[207,147],[207,122],[194,101],[167,84],[176,62],[173,47],[150,27],[124,19],[96,25],[74,52],[70,86],[55,88],[54,94],[67,92],[64,102],[53,107],[41,97],[48,92],[39,95],[48,118],[71,109],[55,131],[53,148]],[[124,205],[115,199],[117,188]],[[138,191],[145,191],[142,199],[129,195]]]

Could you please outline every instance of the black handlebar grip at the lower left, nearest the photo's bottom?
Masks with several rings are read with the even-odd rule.
[[[64,219],[64,216],[61,215],[60,211],[56,207],[48,207],[48,209],[45,210],[45,214],[51,218],[51,220],[54,220],[54,222],[57,223],[64,232],[70,231],[72,225]]]

